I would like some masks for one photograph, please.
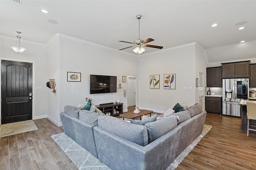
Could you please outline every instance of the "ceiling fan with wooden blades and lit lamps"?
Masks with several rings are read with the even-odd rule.
[[[144,49],[143,47],[151,47],[151,48],[156,48],[156,49],[162,49],[163,47],[161,47],[161,46],[146,44],[146,43],[149,43],[151,41],[154,41],[154,39],[152,39],[152,38],[148,38],[148,39],[145,39],[145,40],[140,39],[140,18],[141,18],[141,15],[137,15],[136,17],[139,20],[139,39],[134,40],[134,43],[127,42],[127,41],[119,41],[119,42],[133,44],[130,47],[136,47],[133,51],[134,51],[134,53],[137,53],[138,55],[145,52],[146,49]],[[126,48],[123,48],[123,49],[120,49],[120,50],[128,49],[130,47],[126,47]]]

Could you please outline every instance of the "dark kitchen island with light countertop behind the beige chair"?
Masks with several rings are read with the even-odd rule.
[[[242,117],[242,131],[247,131],[247,108],[246,108],[246,101],[247,100],[241,100],[240,105],[241,105],[241,117]],[[255,102],[250,100],[250,102]],[[256,120],[250,120],[250,125],[255,125],[256,126]],[[251,127],[252,129],[256,129],[256,127]]]

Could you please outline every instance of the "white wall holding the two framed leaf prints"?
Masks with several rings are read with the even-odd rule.
[[[195,104],[194,44],[141,55],[138,61],[138,92],[140,109],[164,113],[176,103]],[[160,74],[160,89],[150,89],[150,75]],[[164,74],[176,74],[176,89],[164,89]],[[192,90],[188,87],[192,86]],[[183,90],[187,87],[187,90]]]

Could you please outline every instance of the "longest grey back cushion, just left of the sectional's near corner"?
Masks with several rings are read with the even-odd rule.
[[[148,132],[145,126],[128,123],[108,115],[98,117],[98,126],[143,147],[148,145]]]

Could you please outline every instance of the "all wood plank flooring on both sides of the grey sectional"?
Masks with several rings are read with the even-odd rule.
[[[131,111],[134,107],[131,107]],[[63,128],[48,119],[34,120],[38,130],[0,138],[0,170],[76,170],[51,138]],[[212,129],[177,170],[256,169],[256,136],[241,131],[241,119],[207,113]]]

